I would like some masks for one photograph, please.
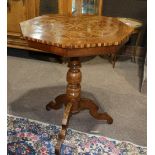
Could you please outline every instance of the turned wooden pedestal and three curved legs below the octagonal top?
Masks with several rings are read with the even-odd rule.
[[[55,102],[51,101],[46,105],[46,110],[48,111],[51,109],[57,110],[65,106],[62,129],[58,135],[58,142],[55,147],[57,155],[60,154],[60,147],[65,139],[69,118],[72,114],[79,113],[81,110],[89,110],[90,115],[95,119],[107,121],[108,124],[113,122],[113,119],[107,113],[98,112],[99,107],[92,100],[80,97],[82,74],[79,58],[70,58],[68,67],[66,94],[57,96]]]

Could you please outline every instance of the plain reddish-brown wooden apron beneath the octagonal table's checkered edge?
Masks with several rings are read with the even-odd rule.
[[[84,57],[84,56],[94,56],[94,55],[104,55],[119,52],[119,49],[124,45],[111,45],[102,47],[90,47],[90,48],[61,48],[53,45],[43,44],[40,42],[34,42],[28,40],[30,47],[42,50],[45,53],[52,53],[62,57]]]

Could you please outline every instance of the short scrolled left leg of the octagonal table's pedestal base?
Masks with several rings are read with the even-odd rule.
[[[51,109],[60,109],[63,104],[67,103],[66,94],[59,95],[55,98],[55,102],[51,101],[46,105],[46,110],[49,111]]]

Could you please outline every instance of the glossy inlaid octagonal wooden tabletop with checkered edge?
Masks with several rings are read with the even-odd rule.
[[[118,46],[124,44],[133,32],[133,28],[116,18],[90,15],[43,15],[24,21],[20,26],[23,37],[31,45],[34,43],[36,48],[42,49],[41,44],[44,44],[52,47],[52,50],[55,47],[56,51],[60,48]]]

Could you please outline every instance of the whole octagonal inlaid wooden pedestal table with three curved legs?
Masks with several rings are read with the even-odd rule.
[[[65,106],[62,129],[59,133],[57,151],[65,139],[69,118],[72,114],[88,109],[98,120],[113,119],[106,112],[99,113],[98,106],[90,99],[81,97],[80,57],[116,54],[126,43],[133,29],[112,17],[43,15],[20,23],[23,38],[32,48],[68,57],[66,93],[47,104],[46,109]],[[95,74],[95,72],[94,72]]]

